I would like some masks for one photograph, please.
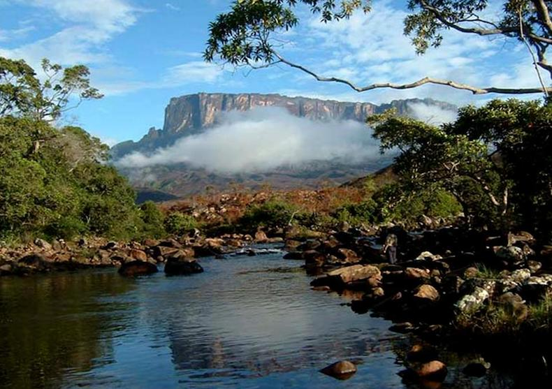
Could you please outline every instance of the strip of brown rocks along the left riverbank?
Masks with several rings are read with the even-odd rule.
[[[198,230],[177,239],[143,242],[109,242],[103,239],[65,242],[46,242],[36,239],[20,247],[0,246],[0,276],[26,276],[37,272],[77,270],[90,267],[119,267],[120,274],[138,275],[157,272],[157,265],[165,263],[167,274],[201,272],[196,258],[216,256],[224,258],[236,251],[245,251],[252,243],[270,243],[262,230],[255,236],[227,234],[221,237],[203,237]],[[250,252],[249,252],[250,251]],[[248,255],[257,251],[247,249]]]

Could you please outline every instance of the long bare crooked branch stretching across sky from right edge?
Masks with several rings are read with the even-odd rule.
[[[488,94],[488,93],[500,93],[500,94],[532,94],[532,93],[543,93],[543,92],[552,92],[552,87],[549,88],[497,88],[497,87],[485,87],[485,88],[479,88],[479,87],[473,87],[471,85],[462,84],[460,82],[455,82],[452,80],[441,80],[439,78],[430,78],[425,77],[421,78],[420,80],[417,80],[415,82],[411,82],[409,84],[393,84],[391,82],[382,82],[382,83],[375,83],[366,85],[365,87],[359,87],[358,85],[355,85],[353,82],[349,80],[344,80],[342,78],[335,78],[335,77],[322,77],[321,75],[318,75],[317,73],[314,73],[314,71],[311,71],[308,68],[305,68],[304,66],[294,64],[291,61],[288,61],[282,55],[278,54],[277,52],[273,52],[274,56],[278,59],[278,61],[271,62],[270,64],[263,64],[262,66],[257,66],[257,68],[266,68],[268,66],[282,63],[286,64],[288,66],[291,66],[292,68],[299,69],[300,71],[303,71],[307,74],[312,75],[315,79],[321,82],[338,82],[340,84],[344,84],[349,86],[351,89],[354,89],[358,92],[364,92],[364,91],[370,91],[372,89],[382,89],[382,88],[390,88],[390,89],[412,89],[416,87],[421,87],[421,85],[426,84],[435,84],[435,85],[445,85],[447,87],[453,87],[455,89],[461,89],[466,91],[471,91],[472,94]]]

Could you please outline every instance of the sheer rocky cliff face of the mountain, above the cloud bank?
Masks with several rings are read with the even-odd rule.
[[[131,140],[115,145],[111,154],[118,159],[131,152],[152,152],[159,147],[171,145],[184,135],[199,133],[217,124],[219,114],[232,110],[247,111],[255,107],[281,107],[292,115],[312,120],[356,120],[396,108],[400,115],[409,115],[409,103],[426,103],[441,108],[453,109],[453,105],[431,99],[397,100],[384,105],[372,103],[349,103],[319,100],[306,97],[286,97],[279,94],[190,94],[171,98],[165,109],[162,130],[150,131],[138,142]]]

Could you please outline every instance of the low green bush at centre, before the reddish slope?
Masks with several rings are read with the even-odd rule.
[[[257,226],[285,227],[293,221],[297,213],[297,208],[290,203],[268,200],[260,205],[249,205],[240,219],[240,224],[248,229],[254,229]]]

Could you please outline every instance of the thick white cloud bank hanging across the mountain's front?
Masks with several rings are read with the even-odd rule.
[[[313,122],[284,108],[270,107],[228,112],[219,126],[204,133],[181,138],[149,156],[129,154],[115,164],[145,168],[184,162],[211,171],[238,173],[315,160],[359,163],[378,157],[377,141],[365,124]]]

